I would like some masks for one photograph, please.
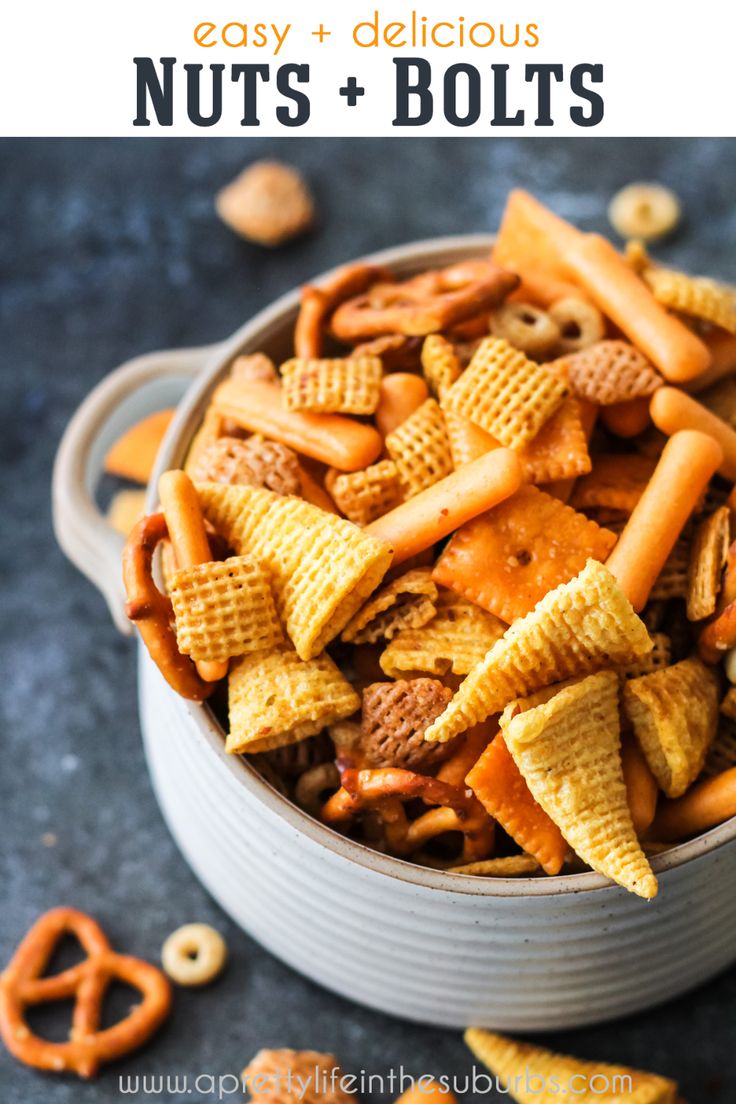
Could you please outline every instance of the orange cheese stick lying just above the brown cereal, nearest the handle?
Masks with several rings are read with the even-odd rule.
[[[370,425],[340,414],[287,411],[276,383],[226,380],[215,391],[213,404],[244,429],[262,433],[341,471],[369,467],[383,447],[381,434]]]

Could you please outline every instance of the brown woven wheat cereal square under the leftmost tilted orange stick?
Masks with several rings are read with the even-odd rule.
[[[299,495],[301,478],[297,454],[286,445],[263,437],[220,437],[203,450],[190,471],[196,482],[244,484],[265,487],[275,495]]]

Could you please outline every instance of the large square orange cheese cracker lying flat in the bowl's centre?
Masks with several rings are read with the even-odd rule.
[[[434,580],[511,624],[548,591],[605,560],[616,534],[536,487],[473,518],[440,555]]]

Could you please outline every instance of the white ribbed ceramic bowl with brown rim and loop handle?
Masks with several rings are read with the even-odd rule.
[[[444,238],[370,259],[408,274],[489,244]],[[54,470],[56,533],[119,628],[130,627],[121,541],[93,499],[105,448],[186,386],[157,475],[179,466],[232,357],[285,355],[297,306],[291,293],[222,346],[118,369],[70,424]],[[568,1028],[655,1005],[736,959],[736,819],[654,859],[660,893],[651,903],[593,873],[448,874],[350,842],[292,806],[225,754],[209,709],[178,698],[142,649],[140,713],[156,793],[198,877],[265,947],[353,1000],[454,1028]]]

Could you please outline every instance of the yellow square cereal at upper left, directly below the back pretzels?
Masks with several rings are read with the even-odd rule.
[[[294,357],[281,364],[284,405],[316,414],[373,414],[381,395],[378,357]]]

